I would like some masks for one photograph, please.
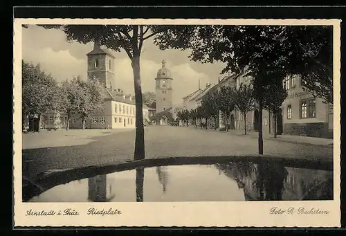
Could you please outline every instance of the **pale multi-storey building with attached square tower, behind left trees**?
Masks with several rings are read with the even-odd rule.
[[[95,42],[93,51],[86,54],[88,62],[88,80],[99,80],[103,85],[104,104],[98,113],[86,118],[87,129],[116,129],[136,127],[136,105],[134,96],[125,94],[122,89],[114,89],[116,84],[113,60],[114,56]],[[149,108],[143,105],[143,119],[149,121]],[[42,118],[41,127],[61,129],[67,126],[67,115],[51,111]],[[69,122],[71,129],[83,127],[80,114],[75,114]]]

